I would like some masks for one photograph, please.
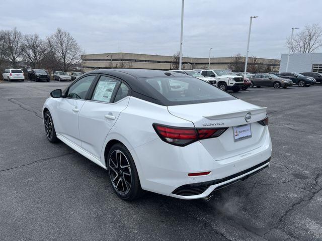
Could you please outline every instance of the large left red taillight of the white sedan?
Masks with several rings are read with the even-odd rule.
[[[187,146],[201,139],[219,137],[228,128],[184,128],[153,124],[156,134],[163,140],[176,146]]]

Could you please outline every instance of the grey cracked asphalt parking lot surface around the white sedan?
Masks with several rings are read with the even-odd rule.
[[[125,202],[106,170],[46,139],[43,102],[69,83],[0,83],[0,240],[322,240],[322,86],[234,93],[268,106],[269,169],[208,202]]]

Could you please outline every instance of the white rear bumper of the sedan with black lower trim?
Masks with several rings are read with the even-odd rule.
[[[230,136],[230,133],[227,135]],[[137,169],[142,189],[181,199],[203,198],[225,184],[246,179],[263,167],[269,166],[272,154],[267,127],[259,143],[251,150],[232,150],[224,153],[224,156],[221,146],[214,145],[213,151],[218,153],[216,158],[211,156],[205,145],[206,143],[198,141],[186,147],[177,147],[157,138],[130,150],[136,166],[139,167]],[[188,173],[206,171],[210,171],[210,174],[188,176]],[[200,186],[199,193],[186,195],[184,192],[178,192],[178,188],[182,186],[200,183],[207,185]]]

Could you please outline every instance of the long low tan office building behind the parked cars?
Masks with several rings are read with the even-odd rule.
[[[136,69],[172,69],[173,56],[135,54],[135,53],[105,53],[105,54],[84,54],[82,55],[82,71],[87,72],[95,69],[106,68],[136,68]],[[261,64],[270,64],[278,71],[278,59],[257,58]],[[211,69],[229,69],[233,57],[210,58]],[[245,57],[243,62],[245,65]],[[272,64],[272,61],[275,61]],[[208,69],[209,58],[183,57],[184,69]],[[252,58],[249,58],[249,63]]]

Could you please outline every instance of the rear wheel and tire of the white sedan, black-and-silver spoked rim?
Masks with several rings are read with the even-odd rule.
[[[112,188],[121,199],[130,201],[144,194],[133,158],[123,144],[117,143],[111,147],[107,166]]]

